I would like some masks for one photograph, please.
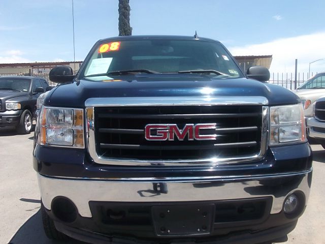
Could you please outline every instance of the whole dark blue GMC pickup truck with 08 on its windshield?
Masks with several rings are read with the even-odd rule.
[[[44,99],[34,168],[49,238],[259,243],[293,230],[312,153],[289,90],[217,41],[98,41]]]

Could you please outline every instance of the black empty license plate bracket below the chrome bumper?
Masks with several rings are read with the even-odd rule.
[[[214,204],[153,206],[151,214],[157,236],[205,235],[211,233]]]

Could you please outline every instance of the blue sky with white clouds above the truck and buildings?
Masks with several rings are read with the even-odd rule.
[[[275,72],[292,72],[295,58],[301,71],[325,58],[323,0],[130,0],[130,6],[133,35],[197,30],[233,55],[273,54]],[[95,41],[118,36],[118,0],[74,0],[74,14],[76,60]],[[71,0],[0,0],[0,43],[0,63],[73,60]],[[324,66],[320,60],[311,69]]]

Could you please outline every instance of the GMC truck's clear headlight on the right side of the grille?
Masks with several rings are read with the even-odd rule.
[[[306,141],[304,111],[301,104],[271,107],[270,145]]]

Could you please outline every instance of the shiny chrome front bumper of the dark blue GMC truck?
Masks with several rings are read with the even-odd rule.
[[[228,177],[213,179],[66,179],[38,174],[44,206],[51,209],[57,196],[69,198],[80,216],[91,218],[89,201],[114,202],[186,202],[247,199],[270,196],[270,214],[282,210],[287,195],[301,191],[308,200],[312,169],[302,172],[267,176]],[[156,185],[160,185],[160,190]],[[164,190],[161,191],[161,186]]]

